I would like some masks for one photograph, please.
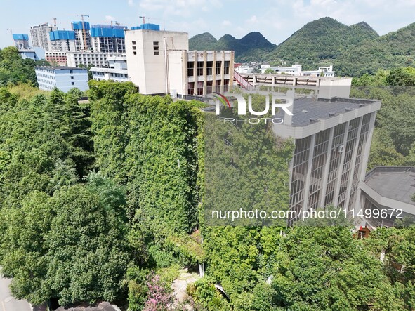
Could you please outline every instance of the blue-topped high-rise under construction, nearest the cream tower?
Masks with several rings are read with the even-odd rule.
[[[119,25],[92,25],[91,37],[93,51],[125,53],[125,29],[127,29],[126,26]]]

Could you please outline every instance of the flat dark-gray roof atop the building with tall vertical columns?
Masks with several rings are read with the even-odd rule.
[[[376,100],[362,100],[357,98],[300,98],[294,100],[291,126],[307,126],[319,119],[329,119],[336,114],[343,114],[365,105],[371,105]],[[275,115],[284,119],[284,111],[279,110]]]

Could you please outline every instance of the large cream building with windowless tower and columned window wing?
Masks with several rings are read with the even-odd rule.
[[[207,95],[233,81],[232,51],[188,51],[187,32],[144,24],[126,30],[129,80],[142,94]]]

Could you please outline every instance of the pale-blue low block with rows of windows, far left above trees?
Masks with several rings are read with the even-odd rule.
[[[71,88],[79,88],[81,91],[88,90],[88,71],[76,67],[43,67],[35,68],[37,83],[44,91],[59,88],[67,92]]]

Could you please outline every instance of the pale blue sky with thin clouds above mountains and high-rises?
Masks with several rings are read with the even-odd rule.
[[[91,24],[117,21],[121,25],[159,24],[161,29],[210,32],[242,38],[261,32],[279,44],[312,20],[329,16],[345,25],[367,22],[378,34],[415,22],[415,0],[0,0],[0,48],[13,44],[13,33],[29,34],[30,27],[57,18],[59,29],[89,15]]]

